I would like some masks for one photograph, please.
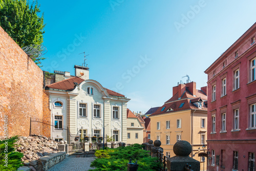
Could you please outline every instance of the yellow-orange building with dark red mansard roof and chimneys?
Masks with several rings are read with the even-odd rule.
[[[203,162],[198,157],[207,138],[207,87],[196,90],[196,82],[179,84],[173,88],[173,97],[164,103],[151,118],[151,139],[160,140],[163,153],[175,156],[173,146],[177,141],[188,141],[193,151],[190,157]],[[205,159],[206,161],[206,159]],[[204,163],[204,170],[206,170]],[[203,163],[201,163],[203,170]]]

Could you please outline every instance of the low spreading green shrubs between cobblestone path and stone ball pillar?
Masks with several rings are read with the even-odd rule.
[[[127,163],[131,158],[133,162],[138,161],[138,170],[158,170],[160,163],[157,158],[151,158],[147,151],[142,149],[142,145],[133,144],[126,147],[96,151],[97,157],[91,164],[96,167],[94,171],[105,170],[127,170]],[[98,157],[99,156],[99,157]],[[104,157],[106,156],[106,157]]]

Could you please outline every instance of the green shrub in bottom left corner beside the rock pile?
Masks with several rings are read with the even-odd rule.
[[[15,152],[14,143],[17,141],[17,136],[11,137],[9,140],[0,141],[0,170],[16,170],[22,166],[23,153]],[[7,142],[7,146],[6,146]],[[8,154],[8,165],[6,167],[5,157]]]

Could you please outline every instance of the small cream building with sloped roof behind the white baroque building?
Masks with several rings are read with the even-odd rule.
[[[143,129],[139,118],[127,109],[127,144],[142,144]]]

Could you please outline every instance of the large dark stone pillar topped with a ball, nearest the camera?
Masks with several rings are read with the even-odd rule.
[[[200,171],[200,162],[189,157],[192,146],[187,141],[178,141],[174,144],[174,153],[176,156],[167,159],[168,171],[184,170],[186,164],[191,165],[194,171]]]

